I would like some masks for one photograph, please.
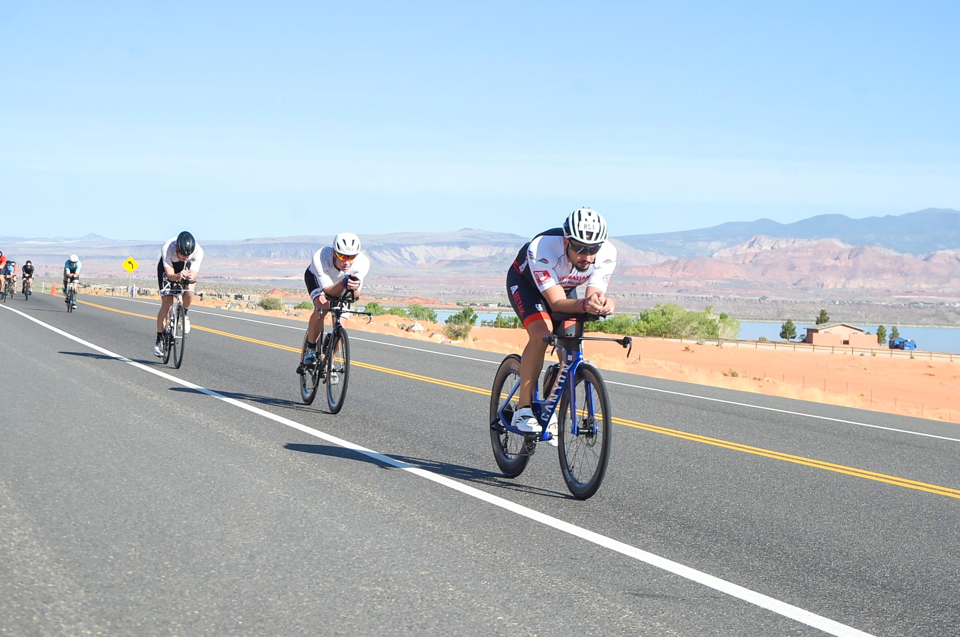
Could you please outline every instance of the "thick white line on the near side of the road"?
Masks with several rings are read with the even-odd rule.
[[[603,547],[605,549],[618,552],[622,555],[632,557],[637,561],[643,562],[645,564],[649,564],[650,566],[654,566],[668,573],[672,573],[676,576],[684,577],[685,579],[689,579],[690,581],[697,582],[698,584],[702,584],[715,591],[719,591],[720,593],[729,595],[733,598],[736,598],[737,600],[743,600],[748,603],[752,603],[755,606],[759,606],[760,608],[764,608],[771,612],[777,613],[778,615],[794,620],[795,622],[799,622],[801,624],[808,625],[813,628],[817,628],[831,635],[841,635],[843,637],[873,637],[870,633],[864,632],[862,630],[858,630],[857,628],[854,628],[852,626],[841,624],[834,620],[828,619],[827,617],[823,617],[821,615],[817,615],[816,613],[812,613],[808,610],[804,610],[804,608],[801,608],[799,606],[794,606],[793,604],[786,603],[785,601],[780,601],[770,596],[763,595],[762,593],[757,593],[756,591],[753,591],[749,588],[745,588],[738,584],[734,584],[730,581],[727,581],[726,579],[721,579],[720,577],[717,577],[717,576],[711,576],[707,573],[704,573],[703,571],[698,571],[696,569],[685,566],[684,564],[681,564],[679,562],[675,562],[665,557],[660,557],[660,555],[657,555],[656,553],[643,551],[642,549],[637,549],[634,546],[631,546],[624,542],[620,542],[618,540],[614,540],[610,537],[607,537],[606,535],[601,535],[600,533],[588,530],[587,528],[577,527],[576,525],[572,525],[568,522],[564,522],[564,520],[561,520],[559,518],[555,518],[545,513],[541,513],[536,509],[523,506],[522,504],[517,504],[516,502],[505,500],[503,498],[500,498],[499,496],[494,496],[490,493],[487,493],[486,491],[481,491],[476,487],[469,486],[468,484],[464,484],[452,478],[446,478],[445,476],[435,474],[432,471],[422,469],[420,467],[415,467],[413,465],[407,464],[406,462],[401,462],[389,455],[384,455],[383,453],[374,452],[370,449],[367,449],[366,447],[361,447],[360,445],[349,442],[348,440],[344,440],[343,438],[338,438],[337,436],[331,435],[319,429],[313,429],[312,427],[307,427],[306,425],[302,425],[297,421],[290,420],[289,418],[284,418],[283,416],[277,416],[276,414],[266,411],[264,409],[260,409],[259,407],[254,407],[252,404],[241,403],[240,401],[237,401],[232,398],[228,398],[223,394],[218,394],[217,392],[211,389],[206,389],[205,387],[194,384],[187,380],[182,380],[175,376],[171,376],[166,372],[161,372],[159,370],[148,367],[147,365],[144,365],[142,363],[133,361],[130,358],[127,358],[126,356],[122,356],[122,355],[110,352],[109,350],[102,348],[99,345],[94,345],[93,343],[89,343],[78,336],[74,336],[73,334],[70,334],[66,331],[62,331],[58,328],[53,327],[52,325],[48,325],[43,321],[40,321],[39,319],[36,319],[33,316],[30,316],[29,314],[25,314],[24,312],[21,312],[18,309],[13,309],[12,307],[8,307],[8,306],[2,306],[2,307],[4,309],[9,309],[12,312],[16,312],[20,316],[23,316],[24,318],[27,318],[33,321],[37,325],[42,326],[47,330],[54,331],[60,334],[61,336],[65,336],[66,338],[69,338],[74,342],[80,343],[81,345],[84,345],[84,347],[87,347],[93,350],[94,352],[99,352],[103,355],[108,355],[111,358],[125,362],[144,372],[148,372],[150,374],[158,376],[161,379],[170,380],[171,382],[176,382],[177,384],[183,387],[188,387],[190,389],[193,389],[194,391],[210,396],[211,398],[215,398],[218,401],[223,401],[224,403],[228,403],[228,404],[232,404],[233,406],[240,407],[241,409],[245,409],[259,416],[263,416],[264,418],[270,419],[281,425],[285,425],[292,429],[298,429],[304,433],[320,438],[321,440],[325,440],[326,442],[332,443],[334,445],[344,447],[345,449],[349,449],[353,452],[362,453],[374,460],[377,460],[378,462],[382,462],[392,467],[396,467],[397,469],[401,469],[415,476],[419,476],[420,478],[426,478],[432,482],[441,484],[445,487],[458,491],[471,498],[475,498],[482,502],[488,502],[504,510],[510,511],[512,513],[516,513],[516,515],[522,516],[529,520],[533,520],[534,522],[539,522],[541,525],[552,527],[557,530],[563,531],[564,533],[568,533],[575,537],[579,537],[599,547]]]

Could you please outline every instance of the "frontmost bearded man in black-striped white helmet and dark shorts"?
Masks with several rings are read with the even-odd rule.
[[[542,431],[532,404],[534,385],[543,367],[547,344],[553,331],[551,312],[599,314],[613,312],[607,284],[616,267],[616,248],[607,240],[607,222],[590,208],[570,212],[563,228],[540,233],[520,248],[507,272],[507,295],[523,322],[530,340],[520,360],[519,408],[513,425],[521,431]],[[583,298],[577,287],[587,285]],[[557,446],[557,417],[547,425],[553,434],[547,442]]]

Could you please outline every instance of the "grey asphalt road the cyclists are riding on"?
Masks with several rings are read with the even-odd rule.
[[[174,370],[80,300],[0,306],[2,634],[958,633],[956,426],[605,372],[579,502],[499,475],[500,355],[353,331],[332,416],[302,323],[197,308]]]

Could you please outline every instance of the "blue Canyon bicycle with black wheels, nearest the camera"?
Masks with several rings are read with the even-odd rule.
[[[613,341],[632,348],[633,339],[584,336],[584,322],[598,317],[554,312],[553,333],[543,340],[561,351],[560,365],[550,365],[543,375],[542,391],[534,387],[533,410],[541,433],[526,433],[513,426],[520,390],[520,356],[508,355],[493,377],[490,400],[490,437],[493,458],[507,478],[516,478],[527,467],[540,441],[557,435],[560,469],[575,498],[587,500],[600,488],[610,462],[612,409],[610,394],[600,372],[584,361],[585,340]],[[627,356],[630,356],[628,349]],[[542,398],[541,398],[542,397]],[[557,433],[548,425],[557,416]]]

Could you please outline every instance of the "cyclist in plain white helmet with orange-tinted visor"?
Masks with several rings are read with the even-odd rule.
[[[339,233],[333,245],[321,248],[313,255],[303,273],[306,289],[310,292],[314,312],[306,332],[306,354],[303,363],[317,362],[317,341],[324,333],[324,318],[330,308],[330,299],[345,290],[353,290],[354,300],[360,298],[363,279],[370,272],[370,259],[360,252],[360,237],[354,233]]]

